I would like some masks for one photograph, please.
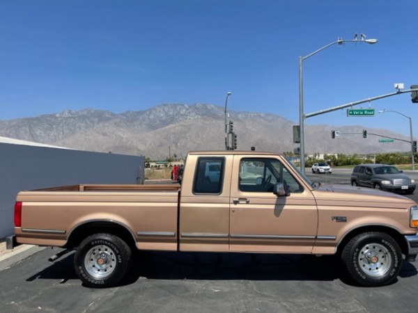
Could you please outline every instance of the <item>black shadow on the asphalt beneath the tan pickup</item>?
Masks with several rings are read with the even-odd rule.
[[[53,252],[52,252],[53,254]],[[32,275],[36,279],[78,280],[74,253],[64,256],[51,266]],[[410,262],[403,261],[399,277],[417,275]],[[150,280],[341,280],[354,285],[340,273],[339,259],[334,255],[274,255],[210,252],[150,252],[135,251],[127,278],[121,285],[133,284],[139,278]],[[395,281],[396,282],[396,281]]]

